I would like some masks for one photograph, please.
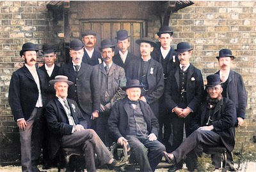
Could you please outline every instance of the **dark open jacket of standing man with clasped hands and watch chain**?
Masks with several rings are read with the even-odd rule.
[[[204,82],[202,73],[199,69],[190,64],[188,70],[187,87],[186,87],[186,100],[189,108],[194,112],[200,106],[204,96]],[[174,76],[174,77],[173,77]],[[178,106],[180,97],[180,73],[179,68],[171,71],[167,78],[166,87],[164,90],[164,97],[166,108],[172,110]]]

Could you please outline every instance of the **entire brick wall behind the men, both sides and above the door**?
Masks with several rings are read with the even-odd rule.
[[[173,47],[180,41],[191,43],[194,47],[191,61],[202,70],[204,78],[218,71],[216,56],[221,48],[230,48],[233,51],[236,57],[233,69],[243,76],[248,92],[246,124],[237,129],[236,151],[240,150],[243,143],[246,148],[255,152],[253,136],[256,135],[256,2],[193,2],[195,4],[173,13],[170,17],[170,25],[175,31]],[[81,1],[70,2],[71,38],[80,36],[81,13],[77,11],[90,9],[88,17],[99,19],[99,12],[95,8],[99,4],[101,9],[106,10],[106,13],[102,13],[105,18],[120,19],[131,17],[123,13],[128,7],[128,11],[131,11],[130,6],[134,6],[134,12],[140,11],[141,6],[146,6],[148,13],[136,16],[132,12],[132,18],[147,18],[148,36],[156,38],[160,23],[156,11],[152,10],[154,3],[120,1],[120,8],[116,11],[116,2],[86,3],[89,3],[88,8],[83,6]],[[31,41],[39,48],[42,48],[45,42],[54,43],[60,50],[59,63],[62,64],[64,60],[63,20],[52,17],[58,10],[48,12],[46,6],[46,1],[0,1],[0,164],[20,159],[19,133],[8,104],[8,85],[13,71],[23,65],[19,57],[23,43]],[[104,8],[105,6],[108,8]]]

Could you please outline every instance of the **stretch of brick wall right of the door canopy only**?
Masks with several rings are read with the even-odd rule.
[[[246,150],[255,153],[256,1],[193,2],[170,18],[175,31],[173,44],[188,41],[193,45],[191,60],[202,70],[204,80],[218,71],[219,50],[232,50],[236,57],[232,69],[242,75],[248,94],[245,125],[236,130],[235,152],[241,150],[243,143]]]

